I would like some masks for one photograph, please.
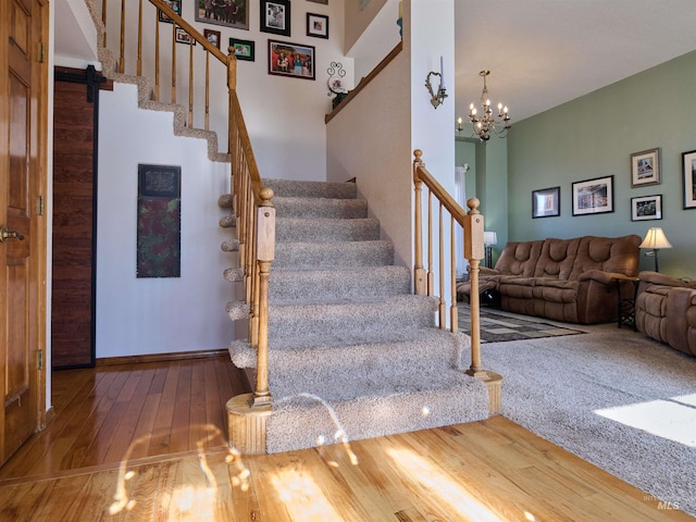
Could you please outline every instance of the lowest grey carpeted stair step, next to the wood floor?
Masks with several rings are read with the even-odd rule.
[[[266,451],[276,453],[324,444],[474,422],[488,418],[486,386],[456,370],[412,372],[360,389],[326,383],[306,395],[273,389]]]

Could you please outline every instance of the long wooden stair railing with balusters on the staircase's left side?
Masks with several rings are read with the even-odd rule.
[[[138,0],[137,28],[137,75],[142,74],[142,1]],[[244,269],[245,302],[249,306],[249,343],[257,350],[257,384],[250,406],[268,409],[272,396],[268,377],[268,330],[269,330],[269,278],[275,251],[275,209],[273,190],[264,187],[253,154],[251,140],[244,121],[237,96],[237,59],[228,49],[228,54],[212,45],[196,27],[162,0],[147,0],[156,8],[154,17],[154,89],[153,98],[159,100],[159,57],[160,57],[160,13],[172,22],[172,103],[176,103],[176,29],[182,28],[189,38],[200,44],[206,51],[206,98],[204,129],[209,129],[210,108],[210,55],[226,67],[228,99],[227,153],[231,161],[232,212],[236,217],[236,235],[239,241],[239,264]],[[103,46],[107,44],[107,2],[102,0]],[[121,0],[121,35],[119,72],[125,71],[125,2]],[[189,45],[188,71],[188,119],[194,124],[194,46]]]

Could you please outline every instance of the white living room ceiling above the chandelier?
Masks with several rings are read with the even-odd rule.
[[[456,111],[512,124],[696,49],[696,0],[455,0]],[[481,112],[481,111],[480,111]]]

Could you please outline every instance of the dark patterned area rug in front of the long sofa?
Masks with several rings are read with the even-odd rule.
[[[482,307],[480,312],[482,343],[501,343],[532,338],[582,334],[573,325],[550,324],[533,316],[520,316]],[[459,304],[459,331],[471,333],[471,314],[468,304]]]

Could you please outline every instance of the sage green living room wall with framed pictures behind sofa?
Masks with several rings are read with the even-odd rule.
[[[696,51],[513,124],[507,141],[509,239],[644,237],[660,226],[673,246],[660,272],[696,278],[696,209],[683,210],[682,194],[682,152],[696,150]],[[631,188],[631,154],[657,147],[661,184]],[[604,176],[613,176],[614,212],[573,216],[572,183]],[[555,186],[561,215],[532,219],[532,190]],[[662,195],[662,220],[631,221],[631,198],[651,195]]]

